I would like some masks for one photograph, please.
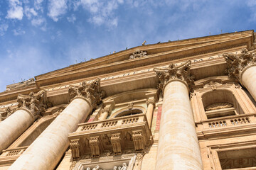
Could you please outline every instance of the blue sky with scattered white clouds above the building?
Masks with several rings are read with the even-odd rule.
[[[110,52],[256,27],[255,0],[0,0],[0,91]]]

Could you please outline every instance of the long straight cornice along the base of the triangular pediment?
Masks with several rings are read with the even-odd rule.
[[[183,59],[186,57],[193,57],[196,55],[202,55],[209,52],[228,50],[234,47],[245,46],[249,43],[251,37],[237,38],[233,40],[226,40],[223,42],[206,43],[205,45],[196,45],[193,47],[186,47],[183,49],[172,50],[169,52],[160,52],[155,55],[148,55],[147,57],[141,57],[134,60],[125,60],[122,62],[114,62],[112,64],[105,64],[99,67],[92,67],[89,69],[81,69],[79,72],[66,72],[54,77],[48,77],[43,79],[36,79],[36,84],[39,86],[48,86],[50,84],[57,84],[73,79],[81,79],[92,77],[95,75],[102,75],[106,73],[119,72],[126,69],[132,69],[137,67],[144,67],[149,64],[156,64],[166,61],[173,61]],[[42,78],[42,77],[41,77]]]

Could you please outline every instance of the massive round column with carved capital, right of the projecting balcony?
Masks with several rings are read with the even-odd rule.
[[[203,169],[189,100],[191,61],[178,67],[154,69],[164,93],[156,169]]]

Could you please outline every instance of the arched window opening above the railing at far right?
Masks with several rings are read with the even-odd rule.
[[[231,91],[209,91],[202,96],[207,118],[244,114],[240,104]]]

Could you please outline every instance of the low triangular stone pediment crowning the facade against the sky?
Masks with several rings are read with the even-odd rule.
[[[192,38],[188,40],[178,40],[174,42],[163,42],[159,44],[142,45],[128,50],[116,52],[112,55],[99,57],[95,60],[73,64],[63,69],[41,74],[36,77],[38,87],[50,84],[95,77],[100,74],[119,72],[125,69],[136,67],[146,67],[150,64],[181,60],[198,55],[210,55],[235,47],[246,46],[250,48],[254,40],[253,30],[240,33],[225,33],[202,38]],[[146,52],[142,57],[131,59],[134,52]]]

